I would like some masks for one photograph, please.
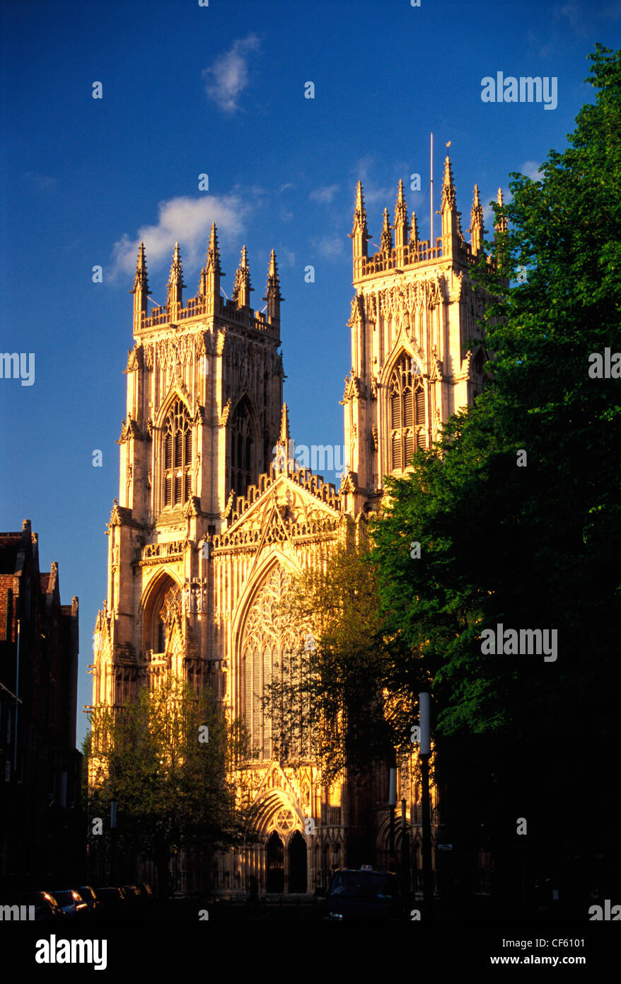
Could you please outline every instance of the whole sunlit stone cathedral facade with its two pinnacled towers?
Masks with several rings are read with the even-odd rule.
[[[349,468],[338,491],[291,455],[274,252],[263,311],[251,304],[246,247],[226,300],[213,225],[198,294],[184,304],[175,245],[166,304],[149,312],[141,244],[92,703],[122,706],[142,686],[175,675],[208,683],[233,717],[243,715],[255,842],[242,854],[222,853],[212,891],[245,894],[254,876],[260,892],[312,892],[352,863],[363,826],[374,857],[354,861],[387,863],[387,774],[369,778],[363,810],[345,784],[325,788],[312,763],[292,769],[276,761],[260,697],[282,654],[300,646],[299,627],[278,616],[291,578],[324,564],[336,544],[356,543],[381,501],[383,477],[403,474],[414,451],[430,447],[440,424],[480,391],[482,352],[466,342],[477,338],[481,313],[469,270],[481,250],[482,209],[476,187],[466,242],[448,156],[440,215],[441,234],[420,240],[400,182],[394,221],[386,209],[379,251],[369,256],[359,182],[350,234],[352,365],[342,400]],[[420,868],[415,758],[413,746],[399,769],[398,801]],[[435,843],[435,791],[433,807]],[[400,814],[398,805],[398,851]],[[183,859],[174,877],[181,891],[198,888]]]

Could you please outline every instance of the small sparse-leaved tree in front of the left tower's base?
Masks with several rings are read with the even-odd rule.
[[[243,839],[249,804],[236,796],[235,769],[246,736],[239,722],[227,724],[209,687],[198,697],[179,681],[144,688],[122,709],[92,708],[90,724],[88,815],[107,817],[117,800],[118,849],[139,849],[156,863],[160,893],[181,848],[208,855],[216,843]],[[101,837],[89,833],[89,842],[96,850]]]

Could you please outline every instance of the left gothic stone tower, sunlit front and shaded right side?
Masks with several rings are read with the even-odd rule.
[[[141,243],[108,594],[95,631],[95,705],[124,704],[141,678],[172,674],[198,685],[204,670],[215,671],[221,691],[221,660],[208,658],[205,543],[271,461],[283,384],[273,250],[264,313],[251,306],[246,247],[230,301],[220,293],[223,276],[214,223],[197,296],[184,305],[176,244],[166,304],[149,313]]]

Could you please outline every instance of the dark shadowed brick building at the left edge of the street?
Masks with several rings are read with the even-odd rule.
[[[0,533],[0,891],[83,867],[77,694],[78,598],[61,604],[58,565],[39,571],[25,520]]]

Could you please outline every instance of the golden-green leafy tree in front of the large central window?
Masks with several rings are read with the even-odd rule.
[[[409,738],[412,713],[405,685],[383,693],[391,652],[365,548],[340,548],[325,566],[294,579],[282,609],[302,631],[300,645],[265,688],[274,754],[288,761],[304,749],[328,785],[388,762],[395,742]]]

